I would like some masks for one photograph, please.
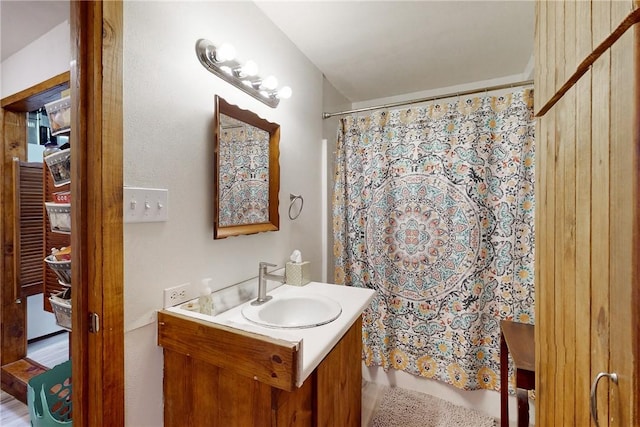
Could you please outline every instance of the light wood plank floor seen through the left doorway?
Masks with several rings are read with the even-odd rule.
[[[69,360],[69,338],[65,332],[29,344],[27,357],[52,368]],[[29,408],[4,391],[0,391],[0,426],[30,427]]]

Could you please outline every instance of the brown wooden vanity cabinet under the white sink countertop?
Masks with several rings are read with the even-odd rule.
[[[164,425],[360,427],[362,321],[295,386],[297,343],[161,311]]]

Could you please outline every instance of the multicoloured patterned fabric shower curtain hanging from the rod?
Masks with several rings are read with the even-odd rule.
[[[533,91],[343,118],[334,178],[365,363],[498,390],[500,319],[534,321]]]

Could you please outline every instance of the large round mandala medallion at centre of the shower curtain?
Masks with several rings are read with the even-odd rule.
[[[369,219],[366,250],[375,281],[390,294],[413,301],[439,298],[473,271],[480,212],[449,181],[420,174],[391,178],[362,212]]]

